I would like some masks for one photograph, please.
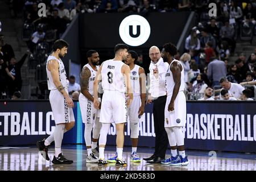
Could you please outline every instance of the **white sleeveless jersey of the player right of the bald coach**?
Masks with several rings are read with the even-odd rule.
[[[177,61],[180,63],[180,61],[178,60],[173,60],[172,63],[174,63],[174,61]],[[172,76],[172,72],[171,72],[171,65],[172,63],[169,65],[167,72],[166,72],[166,91],[167,91],[167,96],[172,95],[172,92],[174,91],[174,77]],[[184,68],[183,65],[180,63],[181,67],[182,67],[182,71],[181,71],[181,77],[180,77],[180,89],[179,91],[183,91],[184,90]]]

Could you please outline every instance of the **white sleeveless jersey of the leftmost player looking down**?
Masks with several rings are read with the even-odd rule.
[[[47,63],[46,63],[48,90],[56,90],[57,89],[55,84],[53,83],[52,74],[47,68],[49,60],[52,60],[52,59],[58,61],[58,63],[59,63],[59,78],[60,78],[61,85],[64,86],[64,88],[68,89],[68,81],[67,81],[68,78],[67,78],[67,74],[66,74],[66,71],[65,71],[63,61],[61,61],[61,59],[57,59],[55,56],[49,55],[48,59],[47,59]]]

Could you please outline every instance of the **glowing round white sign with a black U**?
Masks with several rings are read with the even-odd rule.
[[[143,16],[127,16],[119,26],[119,35],[129,46],[141,46],[150,36],[150,24]]]

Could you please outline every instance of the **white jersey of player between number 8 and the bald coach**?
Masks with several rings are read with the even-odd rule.
[[[141,85],[139,85],[139,65],[135,64],[135,67],[130,72],[131,86],[133,87],[133,96],[141,95]]]

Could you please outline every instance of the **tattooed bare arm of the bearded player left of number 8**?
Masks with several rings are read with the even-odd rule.
[[[81,72],[81,93],[84,94],[84,96],[88,98],[88,100],[93,102],[93,96],[88,91],[89,77],[90,69],[84,67]]]

